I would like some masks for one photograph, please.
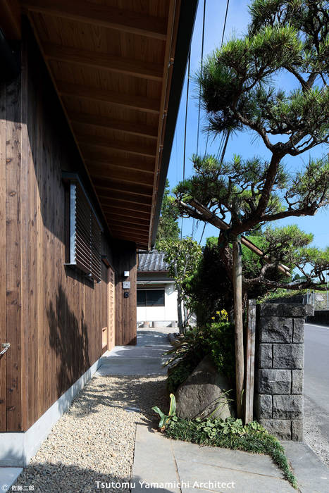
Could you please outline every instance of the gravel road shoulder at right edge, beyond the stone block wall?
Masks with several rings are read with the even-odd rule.
[[[304,396],[304,440],[306,444],[329,466],[329,442],[319,427],[318,414],[314,413],[314,404]],[[324,420],[324,423],[328,422]]]

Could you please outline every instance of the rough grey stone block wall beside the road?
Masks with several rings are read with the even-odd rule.
[[[273,435],[303,439],[304,320],[311,305],[257,306],[254,411]]]

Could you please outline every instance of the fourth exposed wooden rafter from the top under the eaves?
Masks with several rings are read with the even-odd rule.
[[[133,123],[125,120],[117,120],[116,118],[108,118],[107,116],[94,115],[91,113],[70,112],[69,118],[73,123],[85,123],[94,127],[108,128],[108,130],[120,130],[126,134],[137,135],[139,137],[149,137],[149,139],[158,138],[158,128],[143,123]]]

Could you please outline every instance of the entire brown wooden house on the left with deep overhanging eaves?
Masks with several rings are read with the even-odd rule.
[[[135,344],[196,8],[0,0],[0,466]]]

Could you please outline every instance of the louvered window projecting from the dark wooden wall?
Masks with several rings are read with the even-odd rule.
[[[77,175],[64,174],[68,181],[67,263],[95,281],[101,280],[101,223]]]

